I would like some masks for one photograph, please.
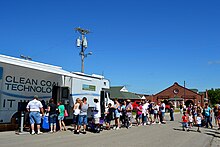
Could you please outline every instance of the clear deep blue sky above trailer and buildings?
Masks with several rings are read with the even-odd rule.
[[[220,88],[219,0],[0,0],[0,54],[80,71],[75,27],[89,29],[85,73],[155,94],[174,82]]]

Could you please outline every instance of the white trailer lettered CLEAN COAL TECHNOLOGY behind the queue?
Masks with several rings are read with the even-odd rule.
[[[107,104],[112,103],[108,89],[109,81],[100,75],[72,73],[58,66],[0,55],[0,123],[10,123],[34,95],[46,103],[50,98],[63,102],[69,119],[76,98],[87,97],[91,116],[96,97],[104,114]]]

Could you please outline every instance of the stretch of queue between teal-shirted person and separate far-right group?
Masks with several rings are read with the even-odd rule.
[[[143,100],[139,102],[136,108],[133,108],[132,102],[128,100],[118,101],[114,100],[114,104],[109,103],[108,107],[105,109],[104,115],[101,117],[101,109],[99,100],[94,98],[95,107],[92,110],[93,119],[87,122],[88,104],[87,99],[84,97],[82,100],[80,98],[76,99],[73,106],[73,131],[75,134],[80,132],[86,134],[86,126],[90,128],[93,132],[100,132],[102,129],[106,130],[119,130],[122,127],[130,128],[133,124],[136,126],[150,125],[150,124],[165,124],[165,103],[154,103],[148,100]],[[87,107],[85,107],[87,106]],[[82,119],[81,113],[84,113],[84,118]],[[174,109],[171,106],[170,118],[174,121]],[[135,116],[136,123],[133,122],[133,116]],[[81,126],[84,126],[83,131],[81,131]]]

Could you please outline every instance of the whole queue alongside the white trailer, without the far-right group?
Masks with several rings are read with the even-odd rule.
[[[151,101],[143,100],[136,108],[133,108],[132,102],[124,100],[119,102],[114,100],[114,104],[109,103],[104,115],[101,117],[101,108],[98,98],[94,98],[95,107],[92,110],[93,119],[88,122],[88,108],[87,98],[77,98],[72,110],[73,110],[73,132],[75,134],[86,134],[86,129],[90,127],[95,132],[100,132],[103,128],[106,130],[115,129],[118,130],[121,127],[130,128],[132,126],[133,116],[136,115],[136,125],[150,125],[150,124],[165,124],[165,104],[154,103]],[[31,134],[41,134],[40,125],[42,123],[42,116],[48,114],[50,133],[56,131],[66,131],[66,125],[64,123],[65,106],[58,102],[55,104],[54,99],[49,100],[49,104],[44,107],[41,101],[38,100],[38,96],[34,96],[34,99],[27,105],[29,113]],[[171,121],[174,117],[171,115]],[[58,120],[58,127],[57,127]],[[37,125],[37,132],[35,132],[35,124]],[[104,127],[105,126],[105,127]]]

